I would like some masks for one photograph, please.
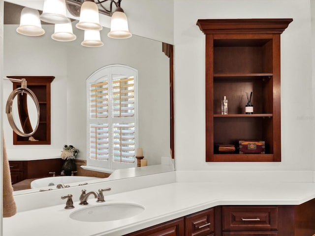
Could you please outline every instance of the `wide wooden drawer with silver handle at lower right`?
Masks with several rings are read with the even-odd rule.
[[[278,228],[278,207],[222,207],[223,230]]]

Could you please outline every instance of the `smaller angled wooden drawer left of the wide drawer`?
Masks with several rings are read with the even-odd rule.
[[[185,225],[185,236],[211,236],[215,231],[214,209],[186,216]]]

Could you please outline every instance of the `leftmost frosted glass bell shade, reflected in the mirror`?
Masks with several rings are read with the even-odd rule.
[[[21,11],[20,26],[16,31],[27,36],[43,35],[45,30],[41,28],[39,12],[35,9],[24,7]]]

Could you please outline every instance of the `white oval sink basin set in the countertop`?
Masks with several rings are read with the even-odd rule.
[[[142,211],[144,211],[144,207],[137,204],[102,204],[76,210],[70,214],[70,218],[85,222],[102,222],[126,219],[140,214]]]

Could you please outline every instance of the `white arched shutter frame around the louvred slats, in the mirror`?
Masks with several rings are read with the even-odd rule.
[[[109,140],[109,159],[108,160],[97,160],[90,158],[90,124],[94,123],[109,123],[112,125],[113,123],[117,122],[117,118],[111,117],[110,112],[110,104],[108,105],[108,118],[90,118],[90,85],[93,83],[100,83],[104,82],[105,80],[108,80],[108,87],[111,86],[113,75],[121,75],[121,76],[133,76],[134,78],[134,116],[132,118],[120,118],[120,122],[134,122],[134,162],[132,163],[126,163],[126,162],[118,162],[113,161],[112,159],[112,142],[111,139]],[[107,78],[107,79],[105,79]],[[106,168],[111,170],[117,170],[117,169],[125,169],[130,167],[136,167],[137,166],[137,159],[135,158],[135,150],[138,147],[138,116],[137,116],[137,81],[138,81],[138,70],[135,68],[132,68],[130,66],[121,65],[121,64],[112,64],[104,66],[97,71],[95,71],[92,75],[87,78],[87,87],[86,87],[86,93],[87,93],[87,165],[88,166],[95,166],[100,168]],[[109,99],[111,100],[111,94],[109,94]],[[104,122],[104,121],[107,122]]]

